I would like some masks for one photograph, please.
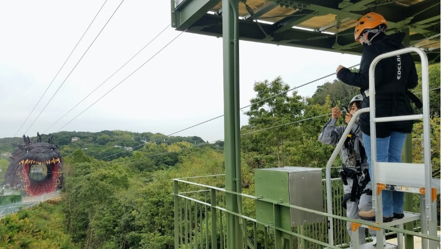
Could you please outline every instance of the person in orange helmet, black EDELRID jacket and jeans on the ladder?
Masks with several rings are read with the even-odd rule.
[[[398,32],[391,35],[384,33],[387,22],[378,13],[364,15],[355,27],[355,40],[363,46],[360,71],[351,72],[339,65],[337,77],[346,84],[360,87],[364,99],[361,107],[369,106],[369,66],[375,57],[403,48],[405,34]],[[409,88],[418,84],[415,62],[410,54],[403,54],[381,60],[375,67],[375,99],[376,117],[401,116],[413,113],[410,105]],[[370,94],[373,94],[371,91]],[[363,132],[364,147],[369,163],[369,173],[372,176],[369,113],[360,115],[359,124]],[[394,121],[376,124],[377,161],[401,162],[401,151],[406,133],[412,132],[413,121]],[[375,176],[374,176],[375,177]],[[404,192],[383,190],[383,222],[394,218],[402,218]],[[362,219],[375,220],[373,210],[361,211]]]

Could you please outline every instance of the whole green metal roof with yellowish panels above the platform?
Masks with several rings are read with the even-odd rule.
[[[221,37],[221,0],[171,0],[172,27]],[[388,21],[388,32],[409,29],[409,44],[440,62],[440,0],[240,0],[241,40],[361,54],[354,26],[368,12]],[[416,60],[419,59],[416,57]]]

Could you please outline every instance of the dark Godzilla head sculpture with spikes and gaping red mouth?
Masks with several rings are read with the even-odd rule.
[[[23,135],[24,145],[18,145],[18,150],[12,154],[4,176],[4,185],[21,187],[28,195],[35,196],[57,190],[62,184],[60,169],[63,166],[57,146],[51,144],[52,136],[47,142],[41,142],[37,133],[37,143],[32,143],[29,137]],[[33,171],[46,166],[46,175],[41,179],[33,179]],[[40,172],[44,172],[44,169]]]

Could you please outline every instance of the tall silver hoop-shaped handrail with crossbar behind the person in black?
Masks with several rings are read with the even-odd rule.
[[[382,59],[390,58],[394,56],[398,56],[405,53],[411,53],[415,52],[421,57],[421,88],[422,88],[422,103],[423,103],[423,113],[422,113],[422,121],[423,121],[423,140],[424,140],[424,187],[425,187],[425,193],[424,193],[424,207],[421,208],[421,216],[422,221],[427,220],[427,223],[424,225],[421,224],[421,226],[427,226],[429,225],[429,231],[428,233],[431,235],[433,233],[433,223],[436,223],[436,205],[432,202],[431,198],[431,189],[432,189],[432,165],[430,162],[430,113],[429,113],[429,69],[428,69],[428,61],[427,56],[419,48],[415,47],[408,47],[403,48],[400,50],[388,52],[381,54],[377,56],[371,63],[369,67],[369,91],[373,92],[373,94],[370,94],[370,104],[369,107],[371,108],[371,111],[369,113],[370,116],[370,138],[371,138],[371,166],[372,166],[372,172],[374,176],[371,176],[371,182],[372,182],[372,207],[375,210],[376,218],[375,221],[377,223],[382,223],[382,201],[381,196],[380,198],[378,196],[378,189],[377,189],[377,179],[375,176],[378,176],[379,174],[379,167],[377,162],[377,144],[376,144],[376,122],[386,122],[390,120],[394,120],[392,117],[387,118],[376,118],[376,107],[375,107],[375,67],[377,66],[378,62],[380,62]],[[402,117],[396,117],[395,119],[401,119]],[[414,115],[409,115],[408,119],[411,120],[414,119]],[[424,210],[423,210],[424,209]],[[436,233],[436,227],[435,227],[435,233]],[[382,231],[377,231],[377,239],[382,240],[383,234]],[[382,245],[379,245],[380,248],[382,248]]]

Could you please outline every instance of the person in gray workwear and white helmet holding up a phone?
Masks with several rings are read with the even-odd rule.
[[[363,97],[361,94],[352,98],[349,104],[349,110],[345,114],[346,124],[352,118],[352,115],[361,108]],[[339,107],[331,109],[331,119],[323,126],[319,135],[319,141],[325,145],[337,145],[343,135],[346,125],[336,126],[337,119],[340,118],[341,111]],[[345,139],[344,145],[340,149],[340,157],[343,161],[340,170],[341,180],[343,181],[342,205],[346,208],[346,215],[351,219],[360,219],[359,211],[368,211],[372,209],[372,187],[369,177],[369,164],[367,163],[366,153],[363,147],[361,129],[356,122],[352,130]],[[352,229],[351,222],[347,223],[347,230],[351,236],[350,246],[352,247]],[[366,243],[365,229],[359,228],[360,244]],[[372,236],[375,236],[374,230],[369,230]]]

